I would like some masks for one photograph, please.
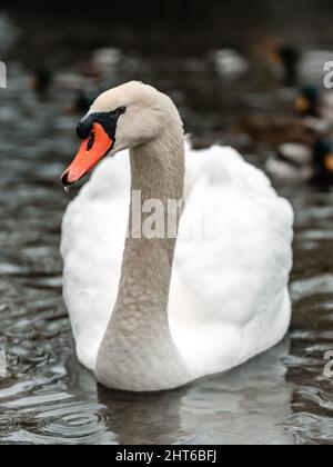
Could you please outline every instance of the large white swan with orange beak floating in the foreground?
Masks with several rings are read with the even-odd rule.
[[[268,178],[231,148],[186,147],[184,163],[174,105],[139,82],[99,97],[78,133],[83,142],[62,177],[65,186],[107,152],[117,153],[69,206],[62,230],[77,352],[98,380],[131,391],[171,389],[279,342],[291,318],[293,212]],[[130,156],[118,153],[128,149]],[[141,210],[132,196],[128,230],[134,235],[123,248],[130,191],[163,208],[182,198],[183,188],[178,242],[133,238]],[[202,208],[208,223],[218,220],[209,238],[193,235]],[[140,230],[148,219],[142,215]]]

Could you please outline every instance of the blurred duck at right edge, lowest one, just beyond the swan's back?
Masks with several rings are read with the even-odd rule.
[[[320,139],[312,146],[287,142],[269,159],[266,169],[275,179],[291,183],[332,185],[333,145]]]

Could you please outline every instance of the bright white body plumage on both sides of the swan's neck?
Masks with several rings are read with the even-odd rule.
[[[231,148],[195,152],[186,145],[184,198],[169,319],[194,379],[244,362],[286,332],[293,211]],[[78,357],[92,370],[117,299],[129,203],[122,152],[98,167],[63,220],[64,299]],[[202,226],[204,205],[218,235],[203,239],[193,225]]]

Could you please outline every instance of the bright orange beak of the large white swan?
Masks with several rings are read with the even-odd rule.
[[[100,123],[94,123],[92,131],[82,145],[70,167],[62,173],[64,187],[75,183],[89,173],[112,149],[114,141]]]

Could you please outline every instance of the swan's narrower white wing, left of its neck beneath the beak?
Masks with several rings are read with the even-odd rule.
[[[129,156],[120,153],[100,163],[63,218],[63,296],[79,359],[90,369],[117,298],[129,203]]]

